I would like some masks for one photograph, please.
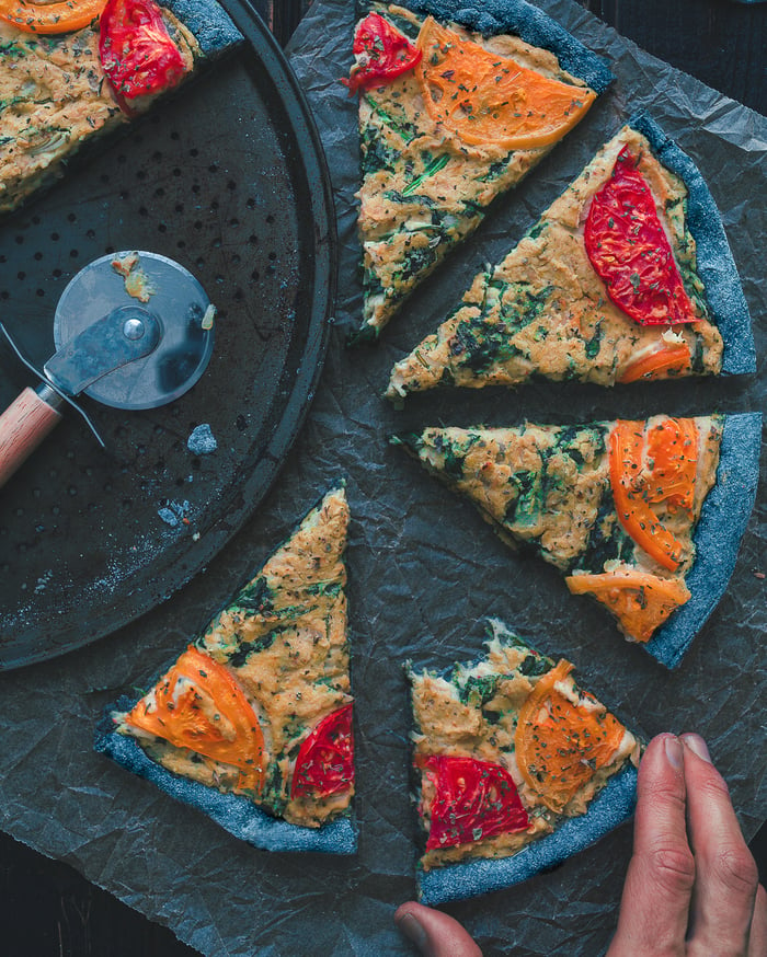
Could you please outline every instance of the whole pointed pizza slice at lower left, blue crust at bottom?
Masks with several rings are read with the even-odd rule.
[[[353,853],[347,523],[332,489],[96,750],[255,846]]]

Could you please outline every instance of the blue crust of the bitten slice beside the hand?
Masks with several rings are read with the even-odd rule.
[[[419,870],[415,878],[419,900],[440,904],[492,893],[556,867],[630,818],[636,795],[637,770],[630,764],[610,777],[585,815],[568,818],[551,834],[528,844],[518,854]]]

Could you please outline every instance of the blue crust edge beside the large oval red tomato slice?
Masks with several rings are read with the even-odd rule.
[[[724,339],[722,372],[737,376],[756,371],[756,349],[748,304],[732,257],[722,219],[713,196],[692,160],[683,152],[646,113],[629,119],[643,134],[664,166],[679,176],[687,189],[687,223],[698,251],[698,273],[706,299]]]

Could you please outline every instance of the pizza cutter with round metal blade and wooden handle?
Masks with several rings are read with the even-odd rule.
[[[157,253],[130,252],[102,256],[70,280],[54,318],[56,353],[42,372],[0,325],[43,380],[0,415],[0,486],[60,420],[66,405],[91,425],[75,401],[80,394],[125,410],[156,408],[183,395],[213,353],[214,315],[187,269]]]

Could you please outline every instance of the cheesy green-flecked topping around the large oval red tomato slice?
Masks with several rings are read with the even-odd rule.
[[[687,187],[657,161],[641,134],[625,127],[503,262],[474,278],[437,332],[394,366],[389,399],[399,402],[440,384],[517,385],[533,376],[613,385],[637,359],[667,344],[667,327],[639,325],[609,299],[584,245],[591,200],[626,146],[639,159],[692,302],[696,321],[675,326],[672,334],[676,345],[689,349],[687,374],[721,370],[722,337],[708,314],[687,227]]]

